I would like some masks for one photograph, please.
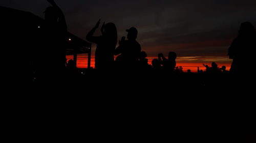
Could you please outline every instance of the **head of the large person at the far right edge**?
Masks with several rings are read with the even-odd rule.
[[[239,36],[250,37],[255,35],[255,28],[250,22],[243,22],[240,26]]]

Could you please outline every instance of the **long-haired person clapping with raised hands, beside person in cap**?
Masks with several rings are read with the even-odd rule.
[[[114,65],[114,50],[117,44],[117,29],[112,22],[105,22],[101,26],[102,36],[93,36],[99,27],[100,19],[95,27],[87,34],[86,39],[89,42],[97,44],[95,51],[95,68],[110,69]]]

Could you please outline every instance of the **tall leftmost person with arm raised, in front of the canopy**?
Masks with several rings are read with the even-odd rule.
[[[54,0],[45,11],[45,23],[38,26],[37,73],[46,79],[61,78],[66,68],[67,24],[65,16]]]

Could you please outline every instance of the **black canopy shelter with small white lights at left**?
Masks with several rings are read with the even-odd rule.
[[[45,20],[26,11],[20,11],[16,9],[6,8],[0,6],[0,31],[1,31],[1,45],[4,53],[10,53],[5,55],[6,62],[10,63],[28,63],[31,56],[35,56],[34,49],[38,48],[36,38],[39,33],[38,30],[41,25],[44,25]],[[88,43],[77,36],[68,33],[66,43],[66,55],[74,55],[76,61],[77,54],[88,53],[88,67],[91,62],[91,43]],[[50,49],[40,49],[48,50]],[[27,59],[29,58],[29,59]],[[25,61],[20,61],[25,60]],[[24,67],[27,65],[16,66]]]

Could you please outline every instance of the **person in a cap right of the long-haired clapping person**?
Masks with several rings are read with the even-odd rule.
[[[115,49],[114,54],[118,55],[118,60],[122,63],[123,68],[138,68],[139,58],[141,54],[141,46],[136,41],[138,31],[135,27],[126,30],[127,40],[125,37],[119,41],[119,46]]]

